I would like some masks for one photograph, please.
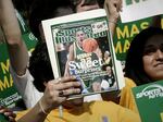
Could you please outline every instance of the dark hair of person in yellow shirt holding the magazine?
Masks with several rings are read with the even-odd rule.
[[[39,91],[45,91],[45,82],[54,78],[45,42],[38,42],[33,51],[29,60],[29,72],[34,77],[34,85]]]

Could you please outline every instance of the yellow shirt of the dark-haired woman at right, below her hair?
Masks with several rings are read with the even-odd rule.
[[[120,105],[138,113],[137,106],[131,93],[136,86],[133,80],[125,77],[125,87],[121,91]]]

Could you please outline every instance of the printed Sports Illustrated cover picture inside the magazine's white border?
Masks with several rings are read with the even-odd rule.
[[[61,75],[76,75],[82,94],[117,88],[104,19],[53,25],[51,30]]]

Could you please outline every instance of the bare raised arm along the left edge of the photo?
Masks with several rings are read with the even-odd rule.
[[[0,24],[7,39],[12,68],[17,75],[23,75],[27,68],[28,52],[22,39],[15,9],[11,0],[0,0]]]

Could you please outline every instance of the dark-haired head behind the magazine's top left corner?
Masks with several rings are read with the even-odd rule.
[[[66,9],[60,11],[60,8]],[[33,34],[40,39],[39,24],[41,21],[74,12],[74,5],[70,0],[35,0],[29,12],[29,27]],[[66,13],[65,13],[66,12]]]

